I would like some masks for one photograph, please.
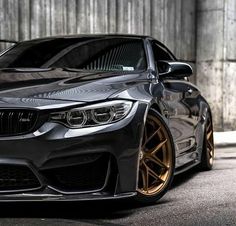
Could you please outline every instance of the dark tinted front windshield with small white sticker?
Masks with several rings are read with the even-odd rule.
[[[143,71],[147,63],[141,39],[52,38],[17,44],[0,56],[0,68]]]

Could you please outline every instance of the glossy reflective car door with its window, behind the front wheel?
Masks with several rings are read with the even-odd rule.
[[[172,53],[157,42],[152,42],[157,70],[161,60],[176,61]],[[198,89],[185,78],[162,78],[161,104],[176,146],[176,167],[197,158],[195,128],[198,123]]]

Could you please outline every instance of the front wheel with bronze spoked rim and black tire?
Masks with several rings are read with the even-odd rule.
[[[175,148],[162,116],[150,109],[139,156],[138,189],[135,201],[152,204],[169,189],[175,169]]]

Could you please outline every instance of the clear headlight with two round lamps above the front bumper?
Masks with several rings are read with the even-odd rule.
[[[131,101],[107,101],[64,112],[55,112],[51,114],[50,119],[70,128],[105,125],[123,119],[130,112],[131,107]]]

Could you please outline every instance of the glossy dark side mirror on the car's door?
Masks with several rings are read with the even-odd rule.
[[[158,61],[157,68],[160,77],[184,78],[193,74],[192,67],[183,62],[177,61]]]

